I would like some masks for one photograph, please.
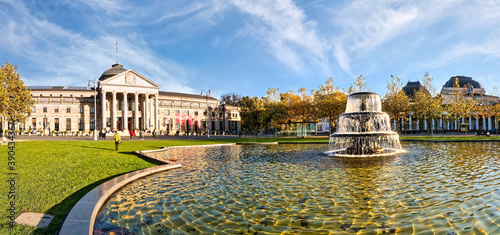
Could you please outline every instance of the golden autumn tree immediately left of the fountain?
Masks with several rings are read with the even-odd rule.
[[[332,134],[335,121],[345,111],[347,95],[333,85],[333,78],[326,80],[325,84],[314,91],[314,107],[317,119],[326,119]]]

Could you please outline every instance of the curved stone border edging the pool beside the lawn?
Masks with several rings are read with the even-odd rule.
[[[85,196],[83,196],[75,206],[73,206],[64,220],[59,234],[92,235],[94,232],[94,223],[97,213],[99,213],[99,210],[104,202],[108,200],[108,197],[111,196],[111,194],[113,194],[116,190],[144,176],[179,167],[181,167],[181,164],[161,165],[137,170],[108,180],[95,187],[90,192],[85,194]]]

